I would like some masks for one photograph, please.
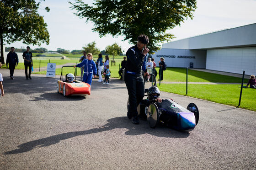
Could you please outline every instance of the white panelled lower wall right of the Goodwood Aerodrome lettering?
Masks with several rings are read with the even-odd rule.
[[[206,69],[256,75],[256,47],[207,50]]]

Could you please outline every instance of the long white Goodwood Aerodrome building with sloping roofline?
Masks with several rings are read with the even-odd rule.
[[[173,41],[153,56],[167,67],[190,67],[256,74],[256,23]],[[190,65],[192,64],[192,65]]]

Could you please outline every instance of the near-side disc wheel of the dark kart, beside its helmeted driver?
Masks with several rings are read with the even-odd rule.
[[[149,108],[147,110],[147,120],[151,128],[155,128],[155,126],[159,122],[159,110],[155,103],[151,103],[149,105]]]

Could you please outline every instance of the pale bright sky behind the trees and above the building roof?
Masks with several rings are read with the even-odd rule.
[[[84,2],[91,4],[93,0],[84,0]],[[131,46],[128,41],[122,41],[122,36],[113,38],[107,35],[100,38],[98,33],[91,31],[93,23],[85,23],[85,20],[73,14],[74,11],[70,10],[67,0],[45,0],[41,8],[46,6],[50,8],[50,12],[39,10],[39,13],[44,16],[44,21],[48,24],[50,43],[42,44],[41,47],[48,50],[57,50],[57,48],[80,50],[92,41],[96,42],[100,50],[105,50],[107,45],[112,45],[114,42],[117,42],[124,51]],[[255,16],[256,0],[197,0],[193,20],[185,20],[181,26],[176,26],[167,32],[176,36],[171,41],[180,40],[216,30],[256,23]],[[21,48],[27,45],[16,41],[6,46]],[[38,46],[30,45],[30,47],[34,49]]]

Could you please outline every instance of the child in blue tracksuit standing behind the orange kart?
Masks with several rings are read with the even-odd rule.
[[[87,59],[83,60],[81,63],[75,66],[75,67],[82,67],[83,65],[85,65],[83,82],[88,83],[89,85],[91,85],[92,74],[94,75],[94,77],[97,74],[96,64],[91,59],[92,59],[92,54],[88,53]]]

